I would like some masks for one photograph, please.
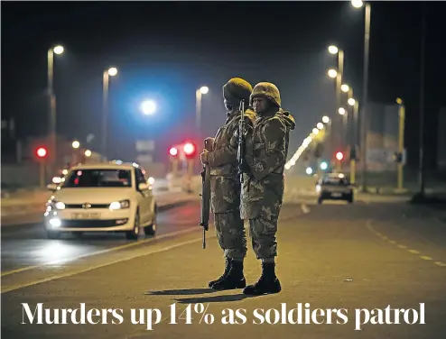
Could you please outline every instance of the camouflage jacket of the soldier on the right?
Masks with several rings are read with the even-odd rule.
[[[272,115],[258,116],[246,138],[246,162],[240,215],[244,219],[278,217],[283,202],[283,169],[288,154],[289,133],[294,118],[282,109]]]

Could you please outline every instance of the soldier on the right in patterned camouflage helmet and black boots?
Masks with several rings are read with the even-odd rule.
[[[240,214],[249,220],[249,231],[256,258],[262,261],[262,276],[246,286],[246,295],[278,293],[281,284],[275,275],[277,223],[283,202],[283,169],[288,153],[289,133],[294,118],[281,108],[277,87],[257,84],[250,97],[257,115],[252,133],[246,138],[246,163]]]

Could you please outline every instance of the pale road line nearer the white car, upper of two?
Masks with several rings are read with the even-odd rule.
[[[65,263],[65,262],[69,262],[69,261],[76,261],[78,259],[90,257],[90,256],[93,256],[93,255],[98,255],[98,254],[103,254],[103,253],[107,253],[107,252],[114,252],[114,251],[124,250],[125,248],[135,247],[137,245],[141,245],[141,244],[144,244],[144,243],[152,243],[152,242],[154,242],[156,240],[160,240],[160,239],[163,239],[163,238],[170,238],[170,237],[175,236],[175,235],[187,234],[187,233],[190,233],[190,232],[193,232],[193,231],[199,231],[199,230],[200,230],[200,228],[190,228],[190,229],[187,229],[187,230],[175,231],[175,232],[171,232],[171,233],[168,233],[168,234],[158,235],[158,236],[155,236],[154,238],[140,240],[140,241],[135,242],[135,243],[125,243],[124,245],[121,245],[121,246],[107,248],[105,250],[101,250],[101,251],[97,251],[97,252],[89,252],[89,253],[81,254],[81,255],[76,256],[76,257],[71,257],[71,258],[66,258],[66,259],[59,259],[57,261],[43,262],[43,263],[38,264],[38,265],[26,266],[26,267],[23,267],[21,269],[16,269],[16,270],[8,270],[8,271],[5,271],[5,272],[2,272],[0,277],[5,277],[5,276],[11,275],[11,274],[20,273],[20,272],[23,272],[25,270],[38,269],[38,268],[41,268],[43,266],[51,266],[51,265],[57,265],[57,264]]]

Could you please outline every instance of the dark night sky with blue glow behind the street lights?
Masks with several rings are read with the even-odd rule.
[[[436,119],[446,105],[445,3],[373,2],[370,101],[407,105],[406,147],[416,166],[420,112],[422,6],[427,14],[425,113],[428,161]],[[55,57],[57,131],[100,146],[102,72],[110,81],[113,156],[133,156],[135,140],[152,139],[158,156],[192,137],[195,90],[206,85],[203,133],[225,120],[221,87],[229,78],[274,82],[296,118],[290,155],[321,116],[333,110],[336,66],[327,47],[345,50],[345,77],[362,97],[364,10],[349,2],[46,2],[2,3],[2,119],[14,116],[19,137],[47,133],[46,51]],[[145,98],[157,102],[142,115]],[[7,151],[7,150],[2,150]]]

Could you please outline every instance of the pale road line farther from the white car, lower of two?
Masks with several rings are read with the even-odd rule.
[[[209,235],[210,236],[208,236],[208,239],[209,238],[215,238],[217,236],[216,234],[209,234]],[[45,278],[45,279],[39,279],[39,280],[35,280],[35,281],[26,282],[24,284],[14,285],[14,286],[11,286],[11,287],[9,287],[7,289],[2,289],[1,294],[7,293],[7,292],[11,292],[11,291],[16,290],[16,289],[28,288],[28,287],[31,287],[31,286],[34,286],[34,285],[38,285],[38,284],[42,284],[44,282],[48,282],[48,281],[51,281],[51,280],[71,277],[71,276],[74,276],[74,275],[77,275],[77,274],[80,274],[80,273],[88,272],[89,270],[97,270],[97,269],[100,269],[100,268],[103,268],[103,267],[106,267],[106,266],[110,266],[110,265],[113,265],[113,264],[116,264],[116,263],[119,263],[119,262],[131,261],[131,260],[133,260],[135,258],[138,258],[138,257],[144,257],[144,255],[151,255],[151,254],[155,254],[155,253],[159,253],[159,252],[166,252],[166,251],[172,250],[172,249],[177,248],[177,247],[188,245],[190,243],[198,243],[198,242],[200,242],[202,240],[203,239],[200,236],[200,238],[197,238],[197,239],[188,240],[188,241],[182,242],[182,243],[175,243],[175,244],[173,244],[171,246],[163,247],[163,248],[161,248],[159,250],[152,250],[152,251],[148,251],[148,252],[144,252],[144,253],[140,253],[140,254],[135,254],[135,255],[133,255],[133,256],[131,256],[129,258],[122,258],[122,259],[118,259],[116,261],[102,263],[100,265],[88,267],[88,269],[75,270],[73,272],[68,272],[68,273],[52,276],[52,277]]]

